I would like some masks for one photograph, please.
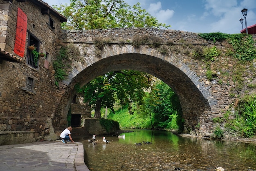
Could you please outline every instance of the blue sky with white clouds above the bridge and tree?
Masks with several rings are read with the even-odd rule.
[[[69,4],[70,0],[43,0],[50,6]],[[256,24],[256,0],[124,0],[130,6],[140,3],[151,16],[173,30],[195,33],[240,33],[247,11],[247,27]]]

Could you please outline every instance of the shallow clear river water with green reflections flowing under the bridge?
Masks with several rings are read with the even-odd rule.
[[[76,139],[85,149],[85,164],[90,171],[256,171],[256,144],[184,138],[169,131],[132,129],[121,133],[125,138],[96,136],[96,145],[90,137]],[[139,142],[152,144],[136,145]]]

